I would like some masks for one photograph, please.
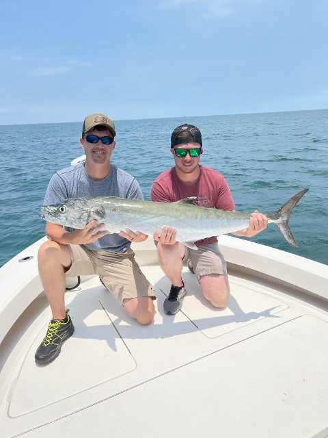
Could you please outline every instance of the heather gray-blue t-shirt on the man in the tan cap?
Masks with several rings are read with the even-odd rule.
[[[59,170],[53,175],[46,190],[43,205],[60,204],[68,198],[94,196],[118,196],[119,198],[143,200],[139,183],[124,170],[111,164],[111,171],[106,178],[101,181],[92,181],[85,172],[84,164],[79,163],[75,167]],[[65,229],[67,231],[73,230],[68,227]],[[123,253],[130,245],[130,241],[114,233],[82,246],[92,250]]]

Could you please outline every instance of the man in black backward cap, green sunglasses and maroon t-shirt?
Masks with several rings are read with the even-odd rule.
[[[226,179],[216,170],[199,164],[203,147],[202,134],[197,127],[187,124],[176,127],[171,136],[171,152],[175,166],[165,170],[152,183],[152,201],[172,203],[197,196],[196,205],[234,210]],[[266,216],[254,211],[249,218],[249,227],[234,234],[252,237],[266,228],[267,224]],[[181,278],[185,260],[200,282],[204,297],[214,307],[226,307],[230,293],[228,274],[216,236],[195,242],[197,250],[177,242],[176,230],[172,227],[157,231],[154,240],[157,242],[161,268],[172,283],[169,296],[164,301],[165,313],[174,315],[180,310],[181,299],[186,294]]]

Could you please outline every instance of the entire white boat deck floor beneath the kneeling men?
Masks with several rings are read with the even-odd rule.
[[[111,434],[128,437],[148,411],[152,420],[140,427],[159,428],[156,437],[170,430],[164,412],[174,417],[176,436],[186,437],[200,436],[200,425],[203,436],[230,437],[267,430],[310,437],[327,428],[327,312],[238,275],[230,275],[228,307],[214,309],[184,268],[182,311],[165,315],[169,281],[156,266],[143,272],[156,286],[149,326],[129,318],[98,277],[87,279],[66,294],[74,335],[53,363],[39,367],[34,353],[49,309],[36,318],[1,373],[1,437],[55,436],[65,424],[76,436],[97,427],[106,436],[107,421]],[[179,414],[172,402],[181,404]]]

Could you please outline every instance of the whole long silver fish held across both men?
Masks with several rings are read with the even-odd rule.
[[[266,214],[269,222],[275,223],[287,242],[297,246],[288,226],[290,211],[308,189],[292,196],[275,214]],[[245,229],[251,213],[225,211],[194,205],[197,197],[185,198],[176,203],[156,203],[133,199],[98,196],[96,198],[68,199],[58,205],[44,205],[39,213],[44,220],[55,224],[83,229],[96,219],[105,223],[104,229],[111,233],[131,229],[153,235],[163,227],[176,229],[176,240],[190,248],[197,248],[193,242]]]

